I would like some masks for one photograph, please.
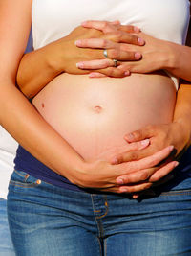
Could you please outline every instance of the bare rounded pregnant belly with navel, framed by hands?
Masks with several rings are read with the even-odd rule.
[[[32,101],[85,160],[124,151],[127,132],[172,121],[176,90],[164,73],[124,79],[62,74]]]

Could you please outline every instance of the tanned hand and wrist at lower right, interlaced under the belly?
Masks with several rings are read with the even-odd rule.
[[[170,172],[165,168],[165,166],[168,166],[175,160],[180,160],[182,153],[191,144],[190,105],[191,86],[182,84],[178,93],[173,122],[158,126],[150,125],[133,131],[130,134],[126,134],[124,139],[128,143],[135,143],[143,139],[149,139],[150,145],[141,151],[131,151],[128,154],[124,152],[120,155],[116,155],[113,158],[113,162],[115,162],[115,164],[120,164],[126,161],[137,161],[138,159],[142,159],[160,151],[168,145],[174,145],[174,151],[172,151],[172,153],[169,154],[169,156],[166,157],[166,159],[158,166],[154,167],[153,171],[148,171],[147,175],[144,177],[145,180],[142,179],[141,183],[144,185],[147,184],[148,186],[150,184],[151,188],[152,186],[157,186],[168,181],[169,178],[173,177],[171,175],[171,171],[177,166],[178,162],[175,163],[174,168],[172,168]],[[126,184],[127,190],[134,194],[134,198],[138,197],[138,194],[135,191],[136,185],[140,182],[138,173],[135,173],[131,178],[128,175],[119,176],[117,177],[117,182],[118,184]]]

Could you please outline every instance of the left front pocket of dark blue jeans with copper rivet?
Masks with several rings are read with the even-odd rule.
[[[14,170],[11,175],[9,187],[34,188],[41,184],[41,180],[25,172]]]

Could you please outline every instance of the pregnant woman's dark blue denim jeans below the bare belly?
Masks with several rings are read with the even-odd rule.
[[[11,175],[8,214],[16,255],[191,255],[191,177],[138,200],[36,181],[24,172]]]

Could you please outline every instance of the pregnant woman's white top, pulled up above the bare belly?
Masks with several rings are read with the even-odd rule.
[[[120,20],[157,38],[184,43],[189,23],[188,0],[33,0],[34,49],[68,35],[82,21]]]

